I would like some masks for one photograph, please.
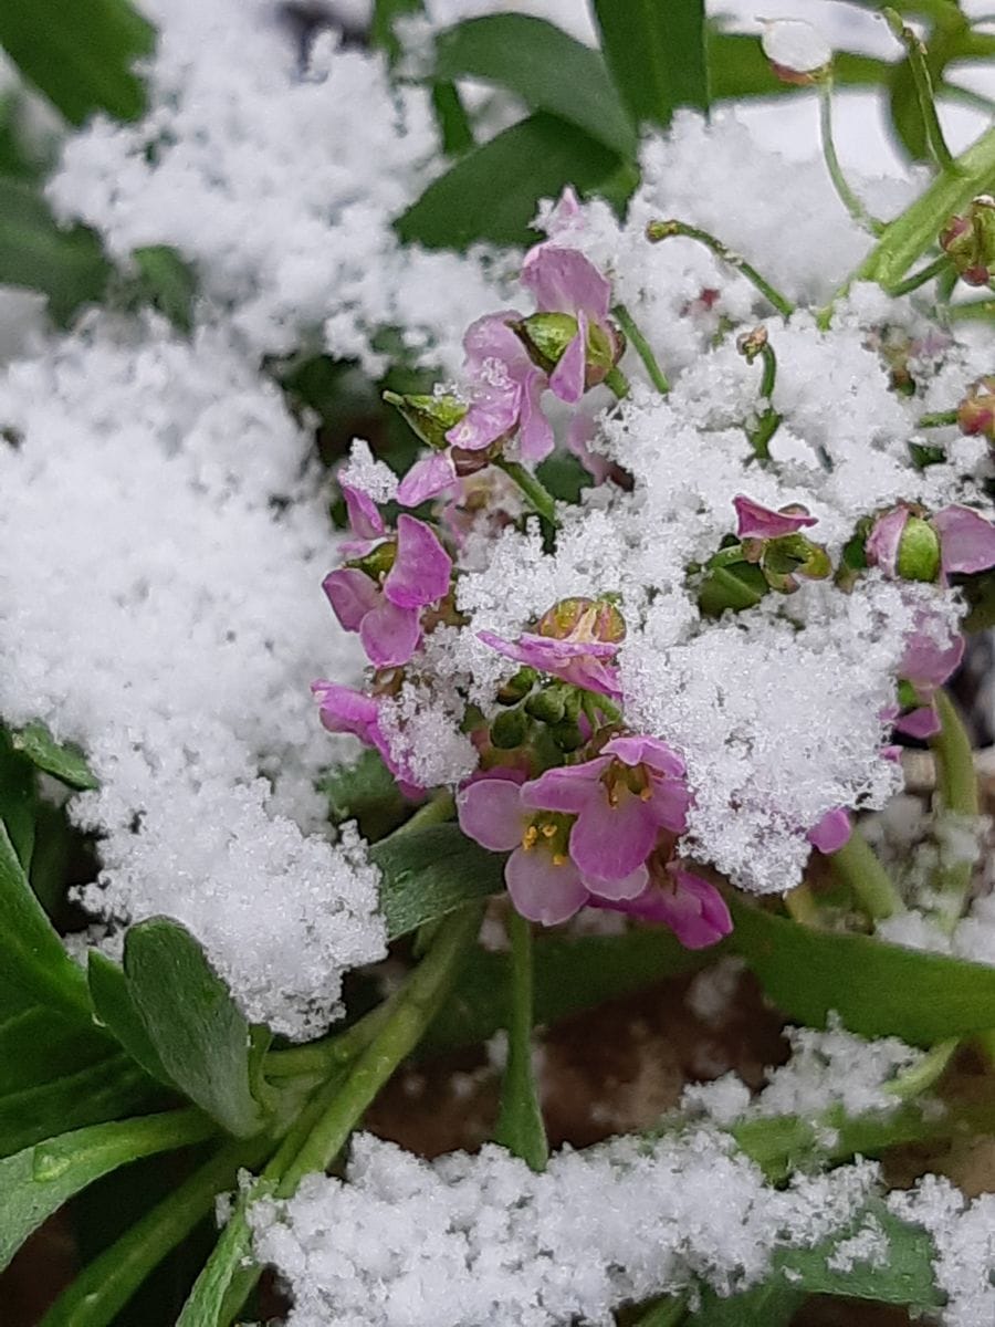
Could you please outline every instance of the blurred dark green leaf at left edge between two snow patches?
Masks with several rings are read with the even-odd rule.
[[[60,228],[31,184],[0,178],[0,283],[46,295],[52,317],[65,324],[81,304],[100,300],[109,276],[93,231]]]

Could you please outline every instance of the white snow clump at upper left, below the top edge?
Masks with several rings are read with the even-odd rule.
[[[49,198],[110,252],[170,244],[200,292],[257,350],[324,326],[370,372],[397,329],[452,369],[459,336],[500,304],[482,257],[405,249],[393,219],[443,169],[429,93],[391,88],[382,56],[313,41],[304,70],[271,0],[154,0],[149,111],[105,117],[65,143]],[[204,312],[204,311],[202,311]]]

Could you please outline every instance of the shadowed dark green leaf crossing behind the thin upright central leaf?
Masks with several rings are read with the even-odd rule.
[[[665,977],[690,973],[711,955],[685,949],[669,930],[631,930],[624,936],[551,937],[536,943],[535,1019],[556,1023],[605,1001],[642,990]],[[479,950],[422,1043],[447,1051],[487,1040],[508,1019],[507,954]]]

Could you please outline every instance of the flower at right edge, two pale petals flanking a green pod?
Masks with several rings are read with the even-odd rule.
[[[995,525],[957,503],[933,518],[899,506],[874,522],[865,551],[870,565],[886,576],[935,581],[995,565]]]

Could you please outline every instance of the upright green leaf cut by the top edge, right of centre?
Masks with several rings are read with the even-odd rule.
[[[594,15],[637,123],[669,125],[678,106],[708,109],[704,0],[594,0]]]

